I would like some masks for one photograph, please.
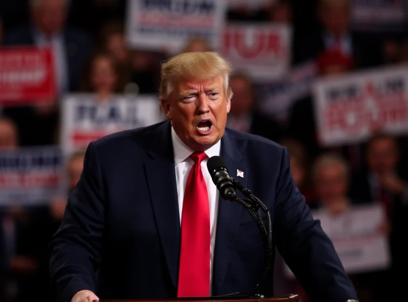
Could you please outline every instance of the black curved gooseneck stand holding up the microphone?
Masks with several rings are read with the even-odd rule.
[[[234,193],[228,194],[228,199],[231,201],[238,202],[241,204],[248,213],[252,216],[253,220],[258,225],[258,229],[261,233],[262,241],[264,243],[264,272],[262,274],[262,278],[258,283],[256,289],[250,294],[251,297],[254,298],[263,298],[264,297],[264,287],[267,281],[268,274],[271,270],[272,266],[272,256],[273,256],[273,245],[272,245],[272,221],[270,216],[270,211],[265,206],[261,200],[254,196],[251,191],[246,189],[240,182],[236,181],[232,176],[231,179],[234,182],[234,186],[236,189],[240,190],[242,194],[248,199],[241,199]],[[266,213],[268,219],[268,229],[265,228],[265,224],[262,221],[261,216],[259,215],[259,209],[261,209],[264,213]]]

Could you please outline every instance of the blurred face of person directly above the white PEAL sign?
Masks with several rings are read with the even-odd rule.
[[[96,93],[112,93],[116,85],[116,72],[113,62],[106,57],[98,57],[93,61],[91,82]]]

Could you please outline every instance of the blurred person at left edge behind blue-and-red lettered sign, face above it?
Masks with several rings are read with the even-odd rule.
[[[0,118],[0,149],[12,150],[18,145],[16,124],[11,119]],[[4,301],[27,301],[38,289],[38,242],[36,230],[32,228],[33,216],[25,207],[2,206],[0,222]]]

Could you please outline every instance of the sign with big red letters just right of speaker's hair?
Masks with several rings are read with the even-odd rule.
[[[221,53],[234,69],[265,82],[288,72],[291,58],[291,28],[273,24],[230,24],[221,43]]]

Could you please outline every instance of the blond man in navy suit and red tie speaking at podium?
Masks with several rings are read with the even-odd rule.
[[[257,224],[219,198],[206,163],[230,173],[271,210],[274,242],[315,301],[356,298],[333,245],[294,185],[285,148],[225,129],[231,66],[185,53],[162,66],[168,121],[91,142],[50,244],[58,301],[216,296],[256,287],[263,271]],[[272,278],[266,295],[272,295]]]

